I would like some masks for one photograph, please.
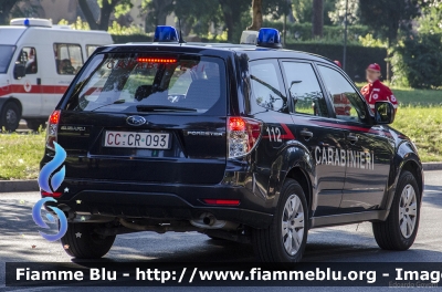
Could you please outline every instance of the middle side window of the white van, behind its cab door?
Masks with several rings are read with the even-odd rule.
[[[56,73],[75,75],[83,66],[82,46],[73,43],[54,43]]]

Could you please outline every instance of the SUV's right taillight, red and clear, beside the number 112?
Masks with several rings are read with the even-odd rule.
[[[229,158],[241,157],[253,150],[261,137],[262,123],[231,116],[228,119]]]

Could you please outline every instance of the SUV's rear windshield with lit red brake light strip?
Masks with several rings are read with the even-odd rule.
[[[66,109],[219,113],[225,108],[224,96],[225,67],[219,58],[97,54],[77,80]]]

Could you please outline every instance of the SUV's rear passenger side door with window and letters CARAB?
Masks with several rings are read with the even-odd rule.
[[[346,165],[340,158],[345,135],[328,118],[329,108],[313,64],[283,61],[282,69],[293,103],[295,136],[315,159],[315,216],[336,213],[345,181]]]

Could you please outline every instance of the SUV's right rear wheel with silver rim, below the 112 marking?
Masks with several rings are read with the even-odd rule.
[[[252,232],[253,249],[260,261],[301,261],[307,242],[307,210],[303,188],[296,180],[286,179],[271,226]]]

